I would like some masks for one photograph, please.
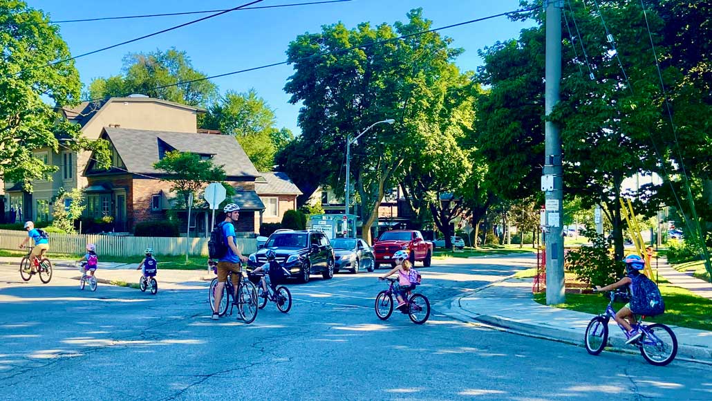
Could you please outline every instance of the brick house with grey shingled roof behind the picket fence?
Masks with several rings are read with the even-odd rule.
[[[259,232],[258,214],[265,209],[255,192],[255,180],[260,173],[235,137],[123,127],[105,127],[100,137],[110,143],[112,167],[100,170],[95,161],[90,160],[84,171],[88,179],[85,188],[88,217],[111,216],[116,231],[133,231],[140,222],[166,219],[170,209],[185,220],[182,199],[171,192],[171,182],[160,180],[169,175],[153,167],[166,152],[178,150],[195,153],[223,167],[226,182],[236,190],[233,200],[241,207],[236,230]],[[220,212],[216,212],[216,219],[219,215]],[[193,216],[191,230],[207,235],[211,213],[204,201],[197,202]],[[184,230],[185,224],[182,224]]]

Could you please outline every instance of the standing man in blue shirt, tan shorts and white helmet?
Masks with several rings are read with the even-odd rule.
[[[223,288],[225,288],[225,282],[227,281],[228,272],[232,271],[236,273],[237,281],[234,282],[234,294],[233,302],[236,303],[237,300],[237,290],[240,286],[240,280],[242,279],[242,262],[247,261],[246,256],[242,256],[240,250],[237,249],[237,242],[235,238],[235,223],[240,217],[240,207],[234,203],[226,204],[223,208],[225,212],[225,221],[221,222],[221,229],[223,233],[224,244],[227,245],[227,251],[225,256],[218,260],[218,284],[215,286],[215,305],[213,306],[213,316],[211,317],[214,321],[220,318],[217,311],[219,311],[220,301],[222,300]]]

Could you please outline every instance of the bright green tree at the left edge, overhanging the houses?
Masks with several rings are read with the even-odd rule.
[[[33,150],[60,150],[60,140],[73,150],[97,150],[107,162],[104,141],[81,137],[77,125],[62,120],[45,103],[74,105],[80,95],[73,61],[59,28],[23,1],[0,0],[0,179],[21,182],[32,190],[33,179],[51,179],[57,167],[46,165]]]

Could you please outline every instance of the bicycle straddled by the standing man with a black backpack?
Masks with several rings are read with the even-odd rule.
[[[216,263],[209,262],[208,265],[211,266],[214,274],[218,274]],[[234,296],[233,294],[235,288],[232,283],[233,272],[229,271],[227,281],[225,282],[225,286],[223,287],[223,295],[220,300],[220,305],[218,307],[218,311],[216,312],[219,316],[225,316],[227,313],[228,306],[230,305],[230,316],[232,316],[233,307],[237,305],[237,312],[240,318],[246,324],[249,324],[255,321],[255,318],[257,318],[257,289],[255,288],[255,285],[253,283],[251,283],[246,277],[244,277],[244,274],[240,274],[243,279],[239,281],[238,301],[235,302],[233,300],[232,303],[229,302],[230,298]],[[215,292],[217,285],[218,278],[216,277],[213,278],[213,280],[210,282],[210,287],[208,288],[208,302],[210,303],[211,310],[214,308],[215,305]]]

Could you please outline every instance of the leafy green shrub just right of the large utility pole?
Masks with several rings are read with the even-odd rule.
[[[590,286],[606,286],[618,281],[623,276],[625,265],[614,260],[604,236],[588,228],[583,235],[590,239],[592,245],[582,245],[569,251],[565,257],[567,269]]]

